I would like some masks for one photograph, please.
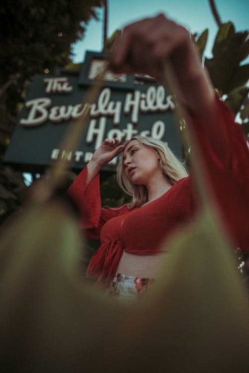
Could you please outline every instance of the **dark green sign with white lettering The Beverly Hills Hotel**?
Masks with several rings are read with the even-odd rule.
[[[104,61],[102,54],[88,52],[88,63],[85,62],[80,77],[75,73],[74,76],[70,73],[56,77],[35,76],[5,162],[25,171],[42,172],[51,160],[61,157],[73,161],[73,168],[80,170],[106,137],[125,141],[135,134],[165,141],[181,157],[171,95],[151,78],[124,75],[119,78],[111,72],[106,77],[111,81],[105,81],[96,103],[91,105],[89,124],[79,148],[74,152],[60,149],[69,123],[80,117],[84,105],[88,105],[81,103],[92,84],[91,79],[98,72],[93,68],[96,56]],[[113,170],[116,163],[117,159],[105,169]]]

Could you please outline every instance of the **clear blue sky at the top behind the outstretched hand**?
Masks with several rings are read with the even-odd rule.
[[[209,29],[206,55],[211,56],[217,25],[211,13],[208,0],[108,0],[108,36],[117,28],[122,28],[142,17],[159,12],[201,33]],[[237,31],[249,29],[249,0],[216,0],[216,6],[223,22],[232,20]],[[99,21],[91,20],[83,40],[72,46],[73,61],[83,62],[86,50],[101,51],[103,47],[103,9],[99,10]]]

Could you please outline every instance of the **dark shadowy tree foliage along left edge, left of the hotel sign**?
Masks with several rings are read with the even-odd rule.
[[[53,73],[71,62],[71,44],[82,39],[102,4],[102,0],[9,0],[0,5],[0,160],[33,75]],[[21,174],[0,164],[0,217],[19,205],[24,188]]]

